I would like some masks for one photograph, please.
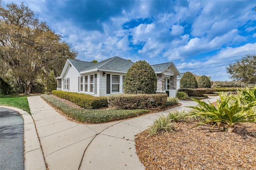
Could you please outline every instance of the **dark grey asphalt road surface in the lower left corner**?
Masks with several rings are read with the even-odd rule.
[[[23,119],[0,107],[0,170],[24,170]]]

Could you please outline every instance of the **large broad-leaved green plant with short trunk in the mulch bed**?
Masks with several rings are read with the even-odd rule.
[[[237,97],[234,102],[230,102],[232,98],[232,96],[220,95],[220,99],[217,100],[217,108],[211,103],[192,99],[201,107],[190,107],[197,110],[197,112],[190,115],[206,117],[205,121],[198,123],[195,127],[206,123],[224,123],[228,126],[228,132],[234,132],[234,125],[237,123],[255,122],[256,113],[253,112],[253,108],[256,107],[256,101],[241,105],[241,97]]]

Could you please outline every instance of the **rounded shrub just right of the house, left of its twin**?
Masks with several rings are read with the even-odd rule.
[[[198,84],[196,77],[189,71],[184,73],[180,79],[180,88],[183,89],[197,89]]]

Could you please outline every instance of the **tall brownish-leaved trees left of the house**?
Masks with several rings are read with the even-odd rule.
[[[12,92],[26,95],[52,91],[66,60],[77,54],[23,3],[0,6],[0,87],[8,85]]]

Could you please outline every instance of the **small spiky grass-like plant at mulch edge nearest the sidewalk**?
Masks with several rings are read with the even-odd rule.
[[[174,132],[172,128],[174,127],[174,124],[171,122],[170,119],[165,117],[164,115],[158,116],[158,119],[154,120],[154,123],[149,126],[149,134],[151,136],[154,136],[158,134],[159,132]]]

